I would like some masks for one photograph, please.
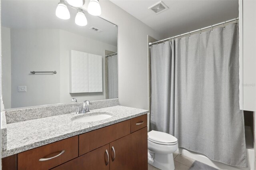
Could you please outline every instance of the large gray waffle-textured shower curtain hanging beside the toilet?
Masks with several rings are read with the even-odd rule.
[[[178,146],[232,166],[247,167],[239,109],[238,26],[151,47],[151,129]]]

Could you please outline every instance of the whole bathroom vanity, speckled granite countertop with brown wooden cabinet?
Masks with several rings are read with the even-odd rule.
[[[99,113],[111,117],[74,121]],[[147,113],[113,106],[9,123],[3,170],[147,170]]]

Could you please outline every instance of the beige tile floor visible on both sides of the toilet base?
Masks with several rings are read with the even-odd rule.
[[[188,158],[176,152],[173,153],[175,170],[188,170],[194,163],[194,159]],[[148,164],[148,170],[159,170],[154,166]]]

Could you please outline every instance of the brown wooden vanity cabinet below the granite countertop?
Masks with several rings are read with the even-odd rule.
[[[3,170],[147,170],[146,118],[142,115],[8,156],[2,159]]]

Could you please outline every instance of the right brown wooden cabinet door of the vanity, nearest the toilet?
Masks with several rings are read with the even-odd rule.
[[[110,143],[110,170],[147,170],[147,127]]]

